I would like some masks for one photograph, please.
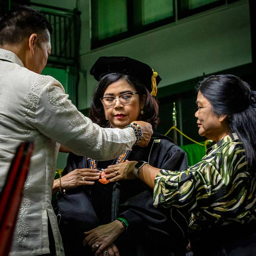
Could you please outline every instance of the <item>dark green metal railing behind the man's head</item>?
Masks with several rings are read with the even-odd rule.
[[[36,4],[29,1],[0,0],[0,16],[21,2],[45,14],[52,25],[52,52],[48,64],[78,66],[80,43],[80,11]]]

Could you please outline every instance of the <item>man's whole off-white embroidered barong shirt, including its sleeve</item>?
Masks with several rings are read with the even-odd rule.
[[[35,148],[9,255],[49,253],[48,219],[56,254],[64,255],[51,204],[59,145],[96,160],[113,159],[135,143],[135,134],[132,128],[93,124],[70,102],[61,83],[26,69],[13,52],[0,49],[0,191],[16,148],[27,140]]]

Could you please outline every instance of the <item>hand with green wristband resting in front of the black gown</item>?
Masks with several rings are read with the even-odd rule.
[[[125,227],[120,221],[117,220],[112,221],[109,224],[98,226],[88,232],[84,232],[86,237],[83,240],[83,245],[88,244],[93,251],[96,251],[96,256],[101,254],[104,255],[106,248],[109,247],[115,241],[115,239],[117,239],[117,237],[124,232],[124,230]]]

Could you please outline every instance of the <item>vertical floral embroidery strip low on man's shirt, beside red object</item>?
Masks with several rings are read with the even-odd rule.
[[[28,236],[29,227],[28,224],[25,221],[25,217],[28,214],[28,208],[30,207],[30,198],[28,197],[26,190],[30,186],[30,180],[32,178],[31,171],[28,171],[28,177],[26,179],[26,182],[24,184],[24,195],[22,198],[22,202],[20,204],[20,213],[19,213],[19,219],[17,221],[17,241],[20,242],[26,242],[26,236]]]

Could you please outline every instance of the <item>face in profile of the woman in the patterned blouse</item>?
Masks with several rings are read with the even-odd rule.
[[[195,113],[197,118],[198,134],[212,139],[215,142],[220,141],[227,133],[227,127],[224,122],[224,115],[216,115],[213,113],[210,102],[202,95],[200,91],[197,94],[198,110]]]

